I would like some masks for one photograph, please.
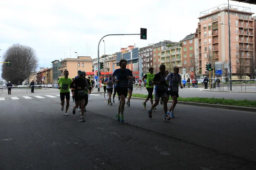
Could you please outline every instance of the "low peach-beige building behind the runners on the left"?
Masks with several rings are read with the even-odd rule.
[[[58,68],[59,71],[61,71],[61,76],[59,78],[64,77],[64,71],[69,72],[69,77],[76,77],[77,71],[85,71],[85,72],[91,72],[92,69],[92,62],[93,60],[91,57],[81,57],[79,56],[77,59],[75,58],[66,58],[61,60],[61,67]]]

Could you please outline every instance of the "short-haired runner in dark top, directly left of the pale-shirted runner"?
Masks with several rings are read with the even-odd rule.
[[[158,105],[160,98],[163,100],[163,110],[164,110],[164,120],[170,120],[171,118],[167,115],[167,96],[166,96],[166,77],[164,75],[166,66],[161,64],[159,66],[160,72],[154,76],[152,84],[155,85],[154,95],[155,102],[151,106],[151,109],[148,109],[148,117],[152,118],[152,110]]]

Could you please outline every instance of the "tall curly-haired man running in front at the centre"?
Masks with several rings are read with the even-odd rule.
[[[120,97],[120,104],[118,107],[118,113],[116,113],[116,118],[120,122],[124,122],[124,109],[125,109],[125,98],[127,97],[128,91],[128,79],[134,79],[131,71],[126,68],[127,61],[125,59],[120,59],[120,68],[113,72],[112,78],[116,76],[116,92]],[[121,114],[121,116],[120,116]]]

